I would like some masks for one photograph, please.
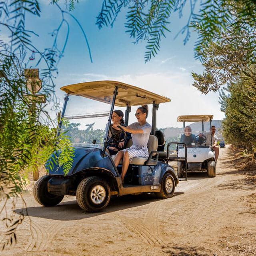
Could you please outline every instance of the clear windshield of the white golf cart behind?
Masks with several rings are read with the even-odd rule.
[[[185,122],[179,132],[180,142],[186,146],[211,146],[210,122]]]

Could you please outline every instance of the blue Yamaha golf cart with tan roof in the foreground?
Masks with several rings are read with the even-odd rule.
[[[156,131],[156,111],[159,104],[169,98],[116,81],[94,81],[72,84],[61,88],[66,92],[58,135],[66,132],[74,147],[72,167],[64,174],[63,166],[53,161],[46,166],[48,175],[34,185],[34,198],[43,206],[60,203],[65,195],[76,196],[80,208],[97,212],[105,208],[112,195],[155,193],[160,198],[170,198],[179,183],[176,172],[168,163],[168,154],[158,160],[163,147],[160,131]],[[114,164],[114,156],[107,150],[111,135],[111,117],[114,107],[125,108],[125,124],[128,125],[131,109],[134,112],[142,104],[151,104],[152,131],[148,141],[148,158],[133,158],[124,184],[120,177],[122,163]],[[130,120],[129,123],[135,122]],[[121,130],[120,132],[124,132]],[[158,136],[158,137],[157,137]],[[165,143],[165,142],[164,142]],[[132,145],[127,142],[126,147]],[[162,152],[163,153],[163,152]],[[57,157],[58,152],[52,155]]]

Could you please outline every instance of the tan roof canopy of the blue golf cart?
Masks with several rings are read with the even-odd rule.
[[[84,82],[66,85],[60,89],[71,95],[83,96],[111,104],[113,91],[116,86],[118,87],[118,95],[116,96],[115,102],[116,106],[125,107],[126,103],[129,106],[137,106],[152,104],[153,101],[155,101],[156,104],[171,101],[164,96],[118,81]]]

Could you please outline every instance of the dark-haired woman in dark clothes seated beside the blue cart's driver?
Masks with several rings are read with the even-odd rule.
[[[109,136],[112,136],[110,139],[109,145],[107,146],[107,149],[109,151],[110,156],[115,155],[119,150],[122,150],[125,146],[128,140],[130,140],[131,135],[126,132],[126,140],[120,142],[120,140],[124,139],[124,134],[120,133],[120,129],[116,126],[124,124],[124,113],[122,110],[114,110],[112,114],[112,122],[113,125],[110,126],[110,134]],[[114,128],[115,124],[115,128]]]

